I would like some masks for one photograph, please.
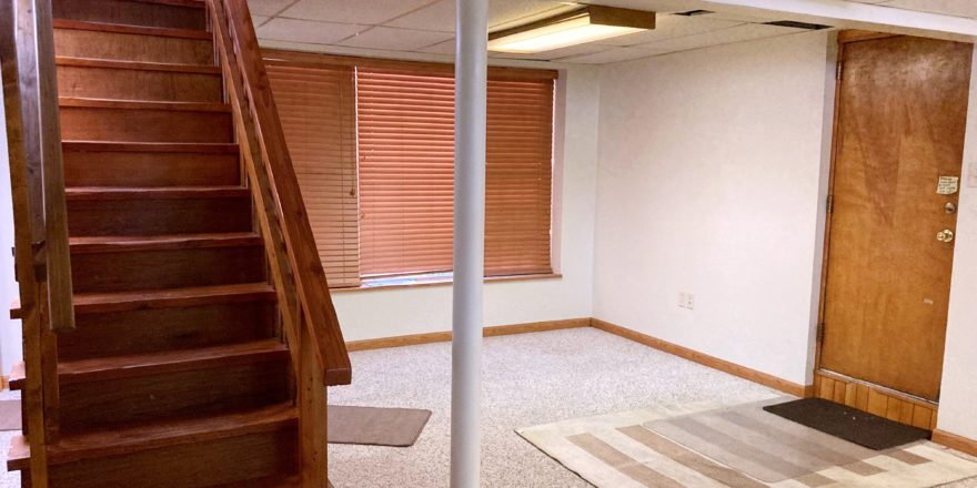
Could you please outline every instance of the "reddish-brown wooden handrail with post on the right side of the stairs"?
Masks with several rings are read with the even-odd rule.
[[[296,379],[302,486],[325,488],[328,385],[349,384],[343,340],[245,0],[207,0],[283,335]]]

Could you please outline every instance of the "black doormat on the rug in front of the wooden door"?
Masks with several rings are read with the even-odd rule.
[[[875,450],[929,439],[931,434],[822,398],[769,405],[764,410]]]

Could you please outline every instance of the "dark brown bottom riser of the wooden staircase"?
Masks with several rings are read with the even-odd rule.
[[[51,486],[170,488],[250,486],[298,471],[295,427],[54,466]],[[28,476],[28,471],[22,471]],[[24,485],[29,486],[29,485]]]

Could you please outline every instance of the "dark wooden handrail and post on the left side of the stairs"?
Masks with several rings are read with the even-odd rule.
[[[74,328],[50,0],[0,0],[0,72],[20,286],[31,484],[48,486],[58,439],[53,332]]]

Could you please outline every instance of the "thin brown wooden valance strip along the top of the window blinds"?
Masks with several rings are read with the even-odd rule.
[[[379,58],[361,58],[353,55],[326,54],[320,52],[291,51],[285,49],[261,50],[266,65],[284,65],[284,67],[304,67],[321,68],[322,65],[353,65],[386,69],[423,69],[429,73],[444,73],[445,75],[454,75],[454,65],[451,63],[439,63],[431,61],[403,61]],[[560,77],[556,70],[536,70],[528,68],[508,68],[508,67],[488,67],[488,78],[496,80],[522,79],[522,80],[555,80]]]

